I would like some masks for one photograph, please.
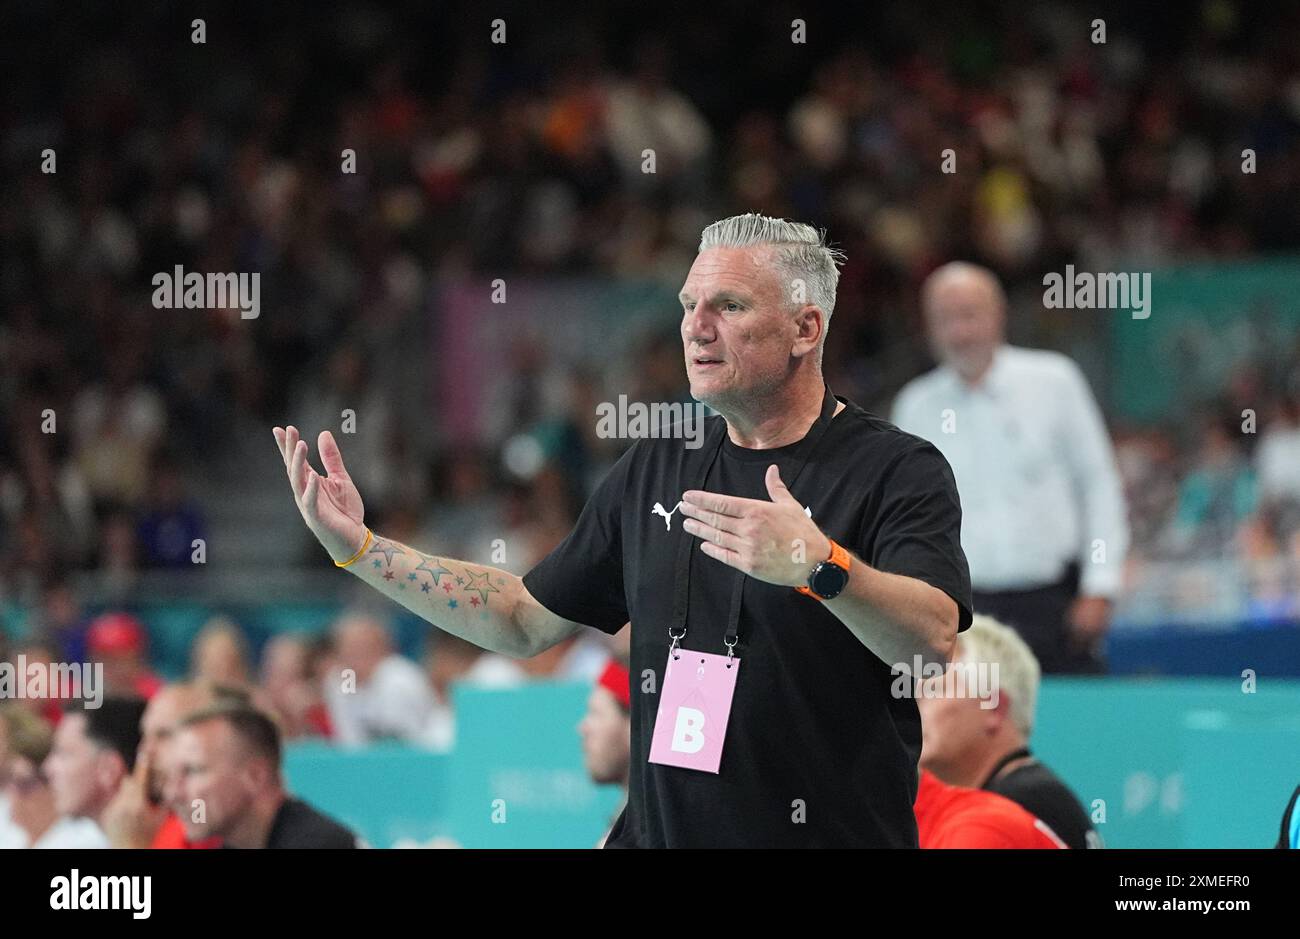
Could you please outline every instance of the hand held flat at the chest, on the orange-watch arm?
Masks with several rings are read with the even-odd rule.
[[[766,483],[771,502],[686,490],[682,528],[702,540],[699,549],[710,558],[768,584],[806,587],[814,564],[831,557],[831,540],[781,483],[775,463]]]

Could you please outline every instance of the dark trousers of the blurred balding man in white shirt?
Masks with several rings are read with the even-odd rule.
[[[1028,642],[1044,675],[1105,675],[1100,641],[1080,644],[1066,622],[1079,596],[1079,566],[1071,564],[1060,583],[1032,590],[972,590],[975,613],[1014,628]]]

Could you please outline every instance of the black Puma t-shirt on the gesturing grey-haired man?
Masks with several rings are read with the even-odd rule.
[[[720,416],[706,419],[697,449],[638,440],[568,537],[525,575],[559,616],[608,633],[632,622],[630,786],[607,847],[916,847],[916,704],[893,697],[890,666],[819,600],[789,587],[745,579],[736,646],[744,663],[719,773],[647,760],[659,701],[642,688],[649,672],[655,691],[663,681],[680,540],[692,540],[682,649],[725,654],[740,576],[682,531],[673,506],[688,489],[768,499],[763,479],[776,463],[828,537],[878,570],[940,588],[957,601],[961,628],[970,626],[961,505],[946,460],[840,401],[845,408],[820,440],[771,450],[736,446]],[[667,520],[653,512],[656,503]]]

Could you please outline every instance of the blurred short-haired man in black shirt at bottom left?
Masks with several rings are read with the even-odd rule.
[[[280,731],[247,705],[216,705],[181,722],[176,762],[186,838],[225,848],[358,848],[351,831],[285,792]]]

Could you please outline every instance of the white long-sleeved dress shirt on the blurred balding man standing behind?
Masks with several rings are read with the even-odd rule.
[[[893,423],[948,459],[976,590],[1046,587],[1080,564],[1080,596],[1122,585],[1128,522],[1114,450],[1083,372],[1061,355],[1000,346],[971,388],[941,365],[910,381]]]

